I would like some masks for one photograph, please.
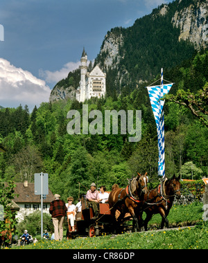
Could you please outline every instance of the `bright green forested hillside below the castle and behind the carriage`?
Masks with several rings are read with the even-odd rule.
[[[201,52],[182,64],[164,71],[164,78],[174,82],[171,93],[190,89],[196,93],[208,82],[208,52]],[[150,82],[157,80],[152,79]],[[43,103],[32,114],[21,105],[0,111],[0,143],[7,152],[0,154],[0,180],[33,182],[35,172],[49,174],[49,187],[66,199],[85,193],[93,181],[111,189],[121,187],[136,172],[148,172],[150,183],[157,181],[157,131],[150,107],[148,83],[131,93],[107,96],[87,102],[89,111],[99,109],[141,109],[142,137],[128,142],[127,135],[69,135],[67,112],[83,105],[77,101]],[[191,112],[174,102],[165,104],[166,176],[182,174],[182,178],[207,176],[207,127]],[[92,119],[89,119],[89,123]],[[191,163],[189,163],[191,162]],[[189,165],[187,165],[187,163]],[[191,171],[189,170],[191,167]],[[80,185],[79,185],[80,183]],[[80,189],[80,190],[79,190]]]

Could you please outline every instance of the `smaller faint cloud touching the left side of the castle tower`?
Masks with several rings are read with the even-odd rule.
[[[63,78],[67,78],[69,72],[78,69],[79,66],[80,62],[68,62],[67,64],[64,64],[59,71],[43,71],[40,69],[39,75],[41,78],[44,78],[46,82],[56,84]]]

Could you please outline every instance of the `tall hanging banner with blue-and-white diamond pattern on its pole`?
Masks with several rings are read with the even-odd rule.
[[[150,97],[150,104],[155,116],[155,123],[157,126],[157,139],[158,139],[158,176],[165,178],[165,156],[164,156],[164,100],[161,100],[164,95],[168,94],[173,83],[163,83],[163,69],[161,69],[161,85],[148,86],[148,94]]]

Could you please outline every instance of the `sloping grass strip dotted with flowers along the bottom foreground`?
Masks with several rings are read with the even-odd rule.
[[[151,230],[121,235],[85,237],[69,241],[40,241],[21,249],[207,249],[208,224],[198,223],[194,228]]]

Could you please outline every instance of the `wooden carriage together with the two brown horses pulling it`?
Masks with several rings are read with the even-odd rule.
[[[153,214],[162,216],[168,226],[168,212],[173,205],[175,197],[180,197],[180,177],[173,176],[166,179],[154,190],[147,189],[148,177],[146,174],[137,174],[129,180],[126,188],[116,188],[110,192],[108,203],[99,203],[99,215],[94,217],[92,205],[85,196],[82,197],[82,210],[76,215],[76,231],[67,236],[88,235],[94,237],[102,233],[126,232],[128,230],[141,230],[144,225],[147,230],[148,221]],[[146,212],[143,221],[142,213]]]

